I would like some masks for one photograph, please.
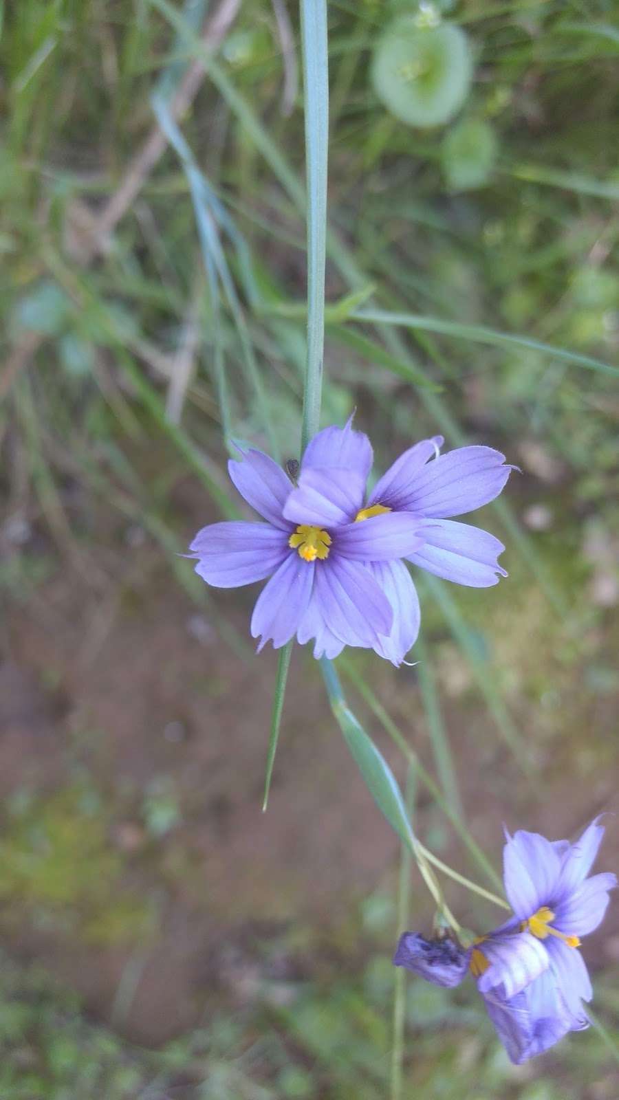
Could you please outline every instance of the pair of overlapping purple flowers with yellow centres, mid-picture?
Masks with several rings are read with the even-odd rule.
[[[403,559],[474,587],[507,575],[498,539],[445,517],[493,499],[512,468],[488,447],[439,455],[442,442],[405,451],[367,501],[372,449],[351,418],[312,439],[296,484],[267,454],[243,452],[228,463],[230,477],[267,522],[203,528],[191,546],[196,572],[216,587],[270,578],[251,619],[259,650],[296,635],[301,645],[314,639],[315,657],[358,646],[400,664],[420,626]]]

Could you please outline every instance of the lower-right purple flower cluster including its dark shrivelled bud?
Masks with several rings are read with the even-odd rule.
[[[520,1064],[554,1046],[567,1032],[588,1027],[583,1001],[593,992],[579,954],[580,936],[593,932],[617,886],[612,873],[588,877],[604,836],[596,818],[576,844],[537,833],[508,835],[504,884],[514,917],[465,952],[412,933],[394,957],[437,986],[455,986],[466,968],[477,980],[488,1015],[512,1062]]]

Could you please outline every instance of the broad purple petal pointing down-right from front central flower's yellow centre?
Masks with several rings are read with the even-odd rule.
[[[346,646],[372,649],[393,623],[389,600],[372,574],[356,561],[332,553],[316,568],[318,612],[330,632]]]

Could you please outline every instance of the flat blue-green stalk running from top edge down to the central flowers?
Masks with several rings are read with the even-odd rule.
[[[301,450],[321,420],[327,235],[328,54],[326,0],[301,0],[307,179],[307,366]]]

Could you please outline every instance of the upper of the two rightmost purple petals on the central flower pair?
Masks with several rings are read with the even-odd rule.
[[[423,466],[398,507],[428,519],[473,512],[503,488],[513,469],[503,462],[491,447],[458,447]]]

